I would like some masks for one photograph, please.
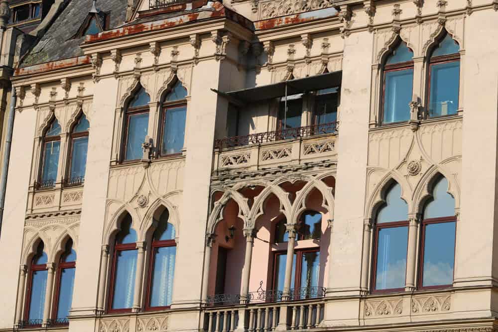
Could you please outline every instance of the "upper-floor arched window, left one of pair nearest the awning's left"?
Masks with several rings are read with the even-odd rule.
[[[124,140],[124,160],[141,159],[142,143],[147,135],[149,124],[150,97],[140,87],[126,108],[126,132]]]

